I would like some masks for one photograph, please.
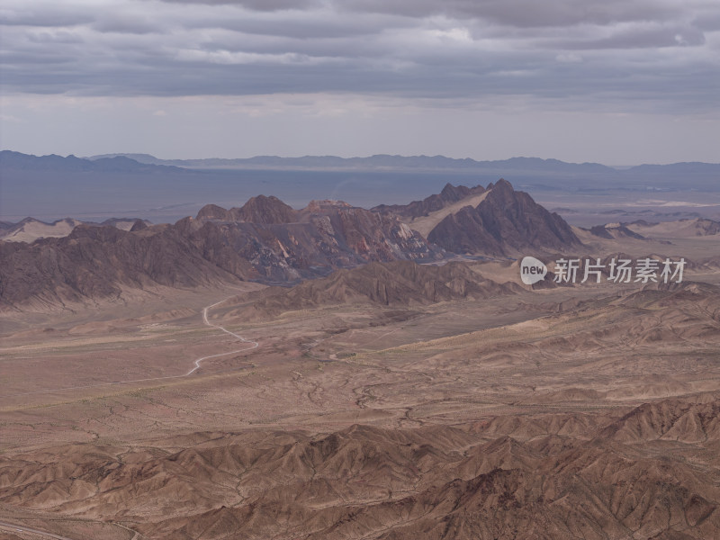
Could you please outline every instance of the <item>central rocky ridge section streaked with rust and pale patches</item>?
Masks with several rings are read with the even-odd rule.
[[[311,202],[294,211],[275,197],[254,197],[239,209],[203,208],[182,220],[185,234],[212,261],[235,273],[245,260],[267,282],[316,277],[372,261],[433,260],[439,249],[394,216],[345,202]]]

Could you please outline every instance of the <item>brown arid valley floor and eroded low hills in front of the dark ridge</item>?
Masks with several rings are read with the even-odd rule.
[[[471,262],[514,285],[7,315],[0,537],[717,537],[720,244],[623,247],[707,262],[670,286],[531,290]]]

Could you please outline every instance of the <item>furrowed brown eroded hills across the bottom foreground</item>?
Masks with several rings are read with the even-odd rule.
[[[516,419],[511,437],[485,422],[197,433],[165,441],[184,447],[170,453],[59,446],[0,458],[0,501],[158,540],[707,539],[720,534],[718,415],[717,399],[665,400],[590,428]]]

